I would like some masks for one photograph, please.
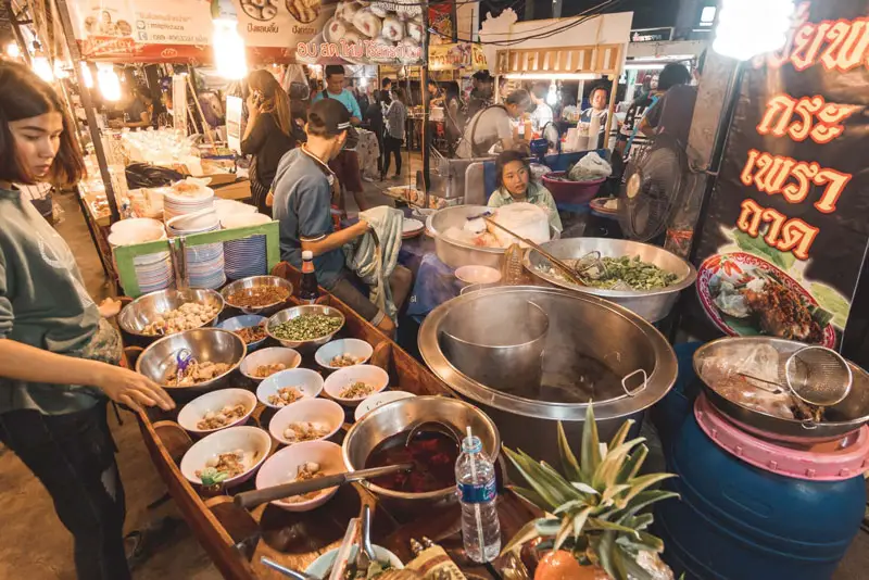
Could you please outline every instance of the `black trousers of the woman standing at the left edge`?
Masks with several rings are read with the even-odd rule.
[[[0,415],[0,441],[39,478],[75,540],[79,580],[129,580],[124,552],[124,488],[106,405],[68,415]]]

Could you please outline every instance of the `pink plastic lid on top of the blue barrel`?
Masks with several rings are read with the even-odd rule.
[[[759,469],[784,477],[814,481],[839,481],[869,469],[869,427],[862,426],[856,441],[840,450],[794,450],[758,439],[728,421],[705,395],[697,398],[694,416],[709,439],[731,455]]]

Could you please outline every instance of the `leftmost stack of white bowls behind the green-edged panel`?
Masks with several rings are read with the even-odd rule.
[[[109,244],[114,251],[119,245],[131,245],[166,239],[166,229],[156,219],[139,217],[122,219],[112,225]],[[172,257],[168,251],[140,255],[133,260],[136,279],[142,293],[156,292],[175,282]],[[117,263],[115,262],[115,267]]]

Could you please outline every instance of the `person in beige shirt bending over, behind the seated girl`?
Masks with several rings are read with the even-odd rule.
[[[519,118],[531,105],[527,90],[513,91],[504,104],[483,109],[465,125],[465,134],[456,149],[458,159],[483,157],[495,143],[503,151],[528,149],[528,141],[519,139],[511,119]]]

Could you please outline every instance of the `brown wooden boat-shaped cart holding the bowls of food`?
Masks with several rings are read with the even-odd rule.
[[[276,270],[293,282],[299,281],[294,270],[281,269],[280,266]],[[293,287],[299,288],[299,283],[293,283]],[[290,300],[295,301],[294,298]],[[330,294],[324,294],[320,302],[344,314],[347,321],[339,337],[358,338],[374,346],[370,364],[389,373],[390,388],[417,395],[455,396],[446,384],[349,306]],[[136,354],[133,349],[128,350],[128,357],[135,357]],[[303,353],[303,367],[315,368],[313,353]],[[248,382],[241,375],[235,386],[255,389],[255,384]],[[176,398],[178,408],[194,396],[191,394]],[[513,559],[501,558],[496,560],[494,568],[480,567],[465,559],[461,550],[461,510],[457,504],[437,510],[429,509],[423,515],[396,513],[383,506],[358,483],[343,486],[326,505],[302,514],[290,513],[272,504],[247,510],[238,507],[230,495],[203,495],[201,489],[187,481],[178,467],[193,441],[175,423],[177,411],[164,413],[149,409],[140,414],[142,437],[169,495],[175,500],[193,534],[227,579],[281,578],[280,573],[261,564],[262,556],[289,568],[304,570],[317,556],[340,544],[350,518],[357,517],[366,504],[374,509],[374,543],[392,551],[405,563],[413,559],[410,540],[421,540],[424,537],[442,545],[463,571],[466,571],[468,578],[498,578],[492,571],[508,566],[502,560]],[[252,420],[264,427],[270,414],[272,409],[259,404]],[[348,416],[348,421],[352,421],[352,413]],[[340,438],[349,427],[349,424],[344,425],[337,436],[337,442],[340,443]],[[273,440],[272,453],[277,449],[278,443]],[[501,487],[503,490],[503,486]],[[253,488],[252,478],[230,491]],[[506,542],[525,522],[534,517],[527,504],[506,490],[499,497],[499,512],[502,542]]]

